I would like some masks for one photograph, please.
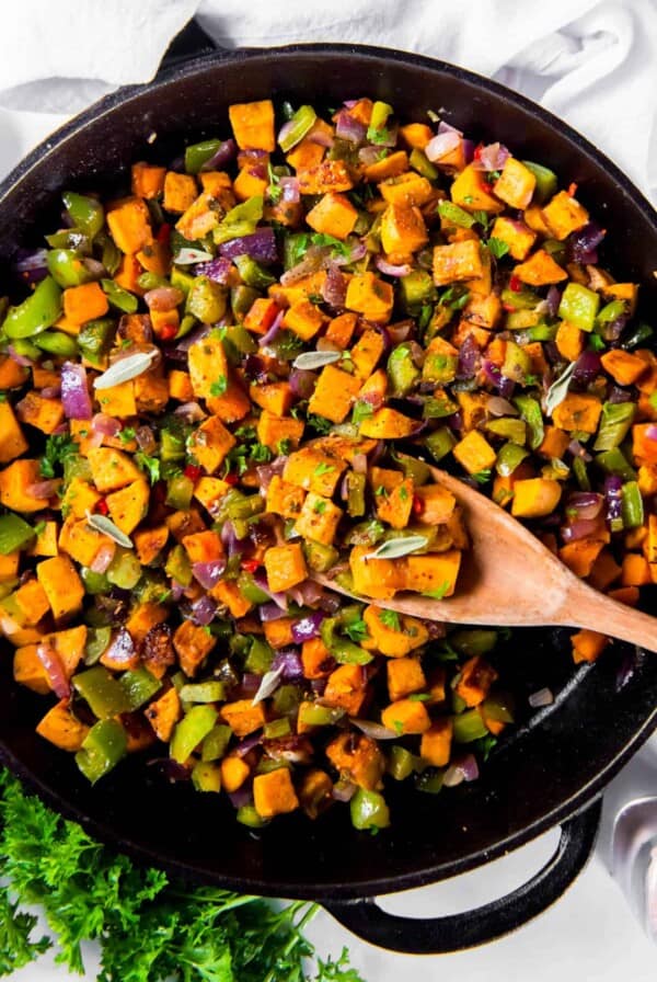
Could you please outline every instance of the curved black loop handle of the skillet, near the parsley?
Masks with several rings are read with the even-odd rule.
[[[362,940],[406,955],[442,955],[485,945],[541,914],[586,866],[596,843],[601,800],[564,822],[555,854],[522,887],[461,914],[427,920],[382,911],[372,898],[330,901],[324,907]]]

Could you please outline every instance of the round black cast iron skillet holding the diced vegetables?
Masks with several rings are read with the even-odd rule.
[[[51,227],[46,221],[59,212],[61,189],[116,187],[135,159],[168,161],[184,141],[228,134],[230,103],[272,95],[331,106],[361,94],[417,121],[445,107],[469,135],[549,164],[565,185],[576,181],[610,230],[606,263],[618,278],[645,284],[644,305],[650,309],[652,300],[654,309],[657,216],[595,147],[495,82],[441,61],[348,45],[206,52],[178,58],[151,84],[102,100],[0,186],[1,264],[20,242],[35,242],[38,229]],[[657,659],[641,659],[619,688],[620,659],[631,652],[614,644],[593,669],[573,675],[567,636],[514,633],[500,660],[519,706],[543,685],[560,693],[555,704],[520,719],[479,781],[438,797],[392,788],[392,829],[376,837],[356,833],[344,808],[315,823],[292,815],[256,836],[234,822],[230,806],[169,786],[142,760],[129,760],[91,789],[66,754],[34,735],[42,699],[14,686],[7,650],[0,757],[50,806],[140,860],[246,892],[319,899],[356,934],[400,951],[457,950],[517,927],[561,895],[592,848],[602,788],[657,721]],[[371,900],[471,869],[557,824],[561,842],[548,866],[479,911],[416,921],[387,914]]]

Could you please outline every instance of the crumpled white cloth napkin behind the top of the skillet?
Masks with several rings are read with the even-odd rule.
[[[151,79],[194,15],[227,47],[359,42],[493,76],[657,199],[655,0],[21,0],[0,33],[0,173],[100,95]]]

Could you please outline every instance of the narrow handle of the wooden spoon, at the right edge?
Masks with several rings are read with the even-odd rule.
[[[657,617],[619,604],[585,584],[568,591],[560,612],[563,625],[589,628],[621,641],[657,651]]]

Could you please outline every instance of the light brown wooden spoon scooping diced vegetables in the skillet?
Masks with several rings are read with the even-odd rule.
[[[434,480],[451,491],[463,509],[471,538],[457,593],[440,601],[403,593],[373,603],[450,624],[590,628],[657,651],[657,617],[598,593],[494,501],[442,470],[430,470]],[[313,579],[345,596],[360,598],[323,574],[315,573]]]

